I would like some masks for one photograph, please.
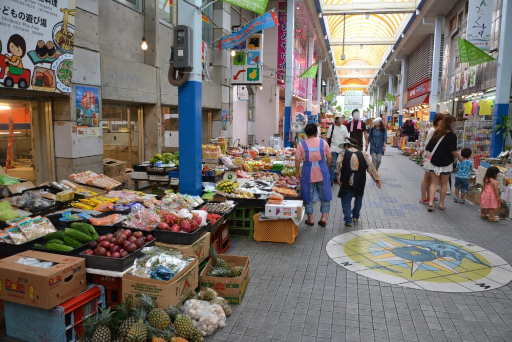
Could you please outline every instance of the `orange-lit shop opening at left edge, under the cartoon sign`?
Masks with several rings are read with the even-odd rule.
[[[0,167],[35,184],[54,180],[51,101],[0,97]]]

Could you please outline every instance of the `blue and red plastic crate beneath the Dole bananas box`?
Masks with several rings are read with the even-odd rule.
[[[6,331],[26,341],[73,342],[83,331],[84,319],[97,319],[98,306],[105,308],[105,290],[94,284],[53,309],[5,302]]]

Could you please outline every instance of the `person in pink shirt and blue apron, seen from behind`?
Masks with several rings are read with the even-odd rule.
[[[308,215],[307,225],[314,225],[313,202],[320,201],[322,218],[318,224],[325,227],[329,214],[330,201],[332,200],[329,166],[331,165],[331,149],[324,139],[318,138],[316,125],[308,123],[305,133],[307,139],[302,140],[297,146],[295,155],[295,174],[299,175],[301,160],[301,198]],[[325,180],[325,181],[324,181]]]

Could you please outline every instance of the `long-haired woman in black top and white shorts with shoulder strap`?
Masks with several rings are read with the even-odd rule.
[[[429,211],[434,211],[434,196],[436,194],[437,185],[439,184],[441,184],[441,190],[439,191],[439,209],[445,209],[444,198],[446,197],[448,179],[453,170],[453,158],[456,157],[459,161],[463,160],[460,153],[457,152],[457,135],[453,133],[455,121],[454,116],[446,115],[434,131],[429,144],[425,147],[426,151],[432,152],[437,142],[442,139],[436,151],[432,154],[430,161],[432,181],[429,190]]]

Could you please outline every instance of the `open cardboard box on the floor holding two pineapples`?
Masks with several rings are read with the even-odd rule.
[[[249,283],[249,258],[240,255],[219,255],[219,258],[225,260],[229,267],[244,266],[242,276],[239,278],[223,278],[217,276],[209,276],[214,260],[210,259],[208,264],[203,268],[200,280],[200,289],[210,287],[219,293],[219,296],[226,298],[231,304],[242,303],[247,283]]]

